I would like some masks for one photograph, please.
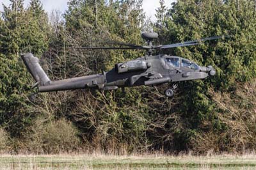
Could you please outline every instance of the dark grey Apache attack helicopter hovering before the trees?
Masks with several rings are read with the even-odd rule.
[[[109,72],[102,72],[95,75],[51,81],[39,64],[39,59],[33,54],[21,54],[28,71],[36,81],[33,86],[38,87],[39,92],[63,91],[70,89],[93,88],[100,90],[115,90],[118,88],[132,86],[155,86],[164,83],[172,83],[172,88],[166,89],[166,97],[173,97],[177,85],[175,82],[205,79],[209,75],[213,76],[216,71],[212,66],[199,66],[193,61],[180,58],[179,56],[168,56],[159,54],[153,56],[154,50],[171,49],[175,47],[186,47],[199,45],[209,40],[216,40],[222,36],[203,38],[200,40],[183,43],[173,43],[170,45],[152,44],[158,38],[157,33],[143,33],[141,37],[147,41],[147,45],[132,45],[118,43],[119,47],[82,47],[81,49],[97,50],[147,50],[145,56],[124,63],[118,63]]]

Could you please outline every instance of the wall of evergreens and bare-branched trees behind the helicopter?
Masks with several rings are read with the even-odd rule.
[[[256,149],[256,1],[178,0],[146,19],[142,0],[70,0],[47,15],[40,0],[11,0],[0,18],[0,149],[4,153],[241,153]],[[158,44],[208,36],[228,38],[163,54],[212,65],[204,81],[117,91],[76,90],[34,95],[20,59],[31,52],[52,80],[109,70],[143,56],[138,50],[81,50],[111,41]],[[159,54],[159,52],[156,52]],[[157,89],[157,90],[156,90]],[[159,93],[159,92],[160,93]]]

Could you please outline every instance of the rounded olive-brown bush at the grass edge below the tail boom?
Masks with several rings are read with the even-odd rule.
[[[36,123],[35,126],[32,137],[34,150],[44,153],[63,153],[74,151],[79,147],[77,129],[64,118],[41,125]]]

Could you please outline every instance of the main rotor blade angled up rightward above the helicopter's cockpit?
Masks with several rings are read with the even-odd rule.
[[[209,40],[217,40],[222,37],[223,36],[212,36],[212,37],[208,37],[208,38],[202,38],[199,40],[193,40],[193,41],[188,41],[188,42],[183,42],[183,43],[173,43],[170,45],[163,45],[160,47],[160,49],[171,49],[171,48],[175,48],[175,47],[186,47],[186,46],[190,46],[190,45],[199,45],[200,43],[204,43]]]

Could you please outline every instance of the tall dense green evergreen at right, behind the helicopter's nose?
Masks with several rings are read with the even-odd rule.
[[[186,128],[179,131],[184,140],[183,149],[193,149],[191,140],[196,134],[221,133],[226,127],[214,108],[218,107],[209,94],[216,90],[235,91],[237,82],[255,78],[255,8],[254,1],[200,1],[180,0],[166,13],[164,26],[166,43],[195,40],[198,38],[228,35],[225,40],[209,42],[195,47],[182,47],[164,52],[191,59],[200,65],[212,65],[217,75],[208,81],[180,83],[183,104],[180,108]],[[163,8],[163,6],[162,6]],[[161,11],[157,16],[161,19]],[[160,12],[160,14],[159,14]],[[174,139],[175,140],[175,139]],[[228,139],[223,139],[228,140]]]

